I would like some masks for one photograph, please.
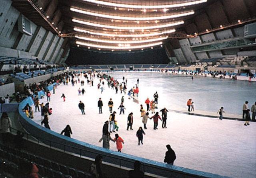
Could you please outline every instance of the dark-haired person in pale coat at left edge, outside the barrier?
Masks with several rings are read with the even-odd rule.
[[[8,134],[10,133],[11,127],[12,123],[10,118],[8,117],[8,114],[6,112],[3,112],[0,119],[0,133],[2,135],[3,143],[6,143],[8,141]]]

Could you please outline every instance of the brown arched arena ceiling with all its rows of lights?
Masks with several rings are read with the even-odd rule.
[[[171,39],[256,15],[255,0],[13,0],[13,6],[70,37],[70,45],[103,51],[144,50],[170,41],[175,46],[178,40]]]

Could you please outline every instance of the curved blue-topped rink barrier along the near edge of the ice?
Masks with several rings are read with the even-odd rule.
[[[128,155],[125,153],[119,153],[116,151],[111,151],[109,149],[104,149],[89,143],[85,143],[64,135],[56,133],[41,125],[38,125],[30,118],[26,117],[26,114],[22,109],[26,104],[34,104],[31,97],[23,100],[19,106],[18,111],[20,115],[20,123],[24,129],[33,135],[38,141],[49,145],[50,147],[55,147],[67,152],[75,153],[80,156],[87,156],[90,158],[95,158],[97,155],[102,155],[105,162],[116,164],[127,168],[134,168],[133,164],[135,160],[138,160],[142,163],[142,169],[144,172],[156,174],[158,176],[164,176],[168,178],[177,178],[177,177],[186,177],[186,178],[228,178],[226,176],[220,176],[216,174],[211,174],[208,172],[202,172],[198,170],[187,169],[179,166],[172,166],[170,164],[165,164],[163,162],[158,162],[154,160],[149,160],[141,158],[138,156]],[[50,125],[51,126],[51,125]],[[163,155],[164,156],[164,155]]]

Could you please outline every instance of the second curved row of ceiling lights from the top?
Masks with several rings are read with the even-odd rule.
[[[180,13],[180,14],[173,14],[173,15],[169,15],[169,16],[158,16],[158,17],[124,17],[124,16],[112,16],[112,15],[107,15],[107,14],[99,14],[99,13],[95,13],[95,12],[89,12],[86,10],[80,10],[80,9],[76,9],[76,8],[70,8],[71,11],[73,12],[78,12],[81,14],[86,14],[89,16],[96,16],[96,17],[102,17],[102,18],[110,18],[110,19],[118,19],[118,20],[134,20],[134,21],[138,21],[138,20],[162,20],[162,19],[169,19],[169,18],[178,18],[178,17],[183,17],[183,16],[189,16],[194,14],[194,11],[190,11],[190,12],[184,12],[184,13]],[[111,22],[113,22],[111,20]]]

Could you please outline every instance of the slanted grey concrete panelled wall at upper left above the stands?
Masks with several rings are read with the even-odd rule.
[[[0,2],[0,56],[28,59],[33,57],[58,63],[66,60],[60,59],[63,38],[31,21],[32,35],[22,34],[17,28],[17,20],[21,14],[11,6],[12,0]]]

